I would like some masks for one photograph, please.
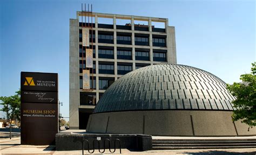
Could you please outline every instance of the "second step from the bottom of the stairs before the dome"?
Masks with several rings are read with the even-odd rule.
[[[225,143],[217,143],[217,144],[152,144],[152,146],[256,146],[255,143],[235,143],[235,144],[225,144]]]

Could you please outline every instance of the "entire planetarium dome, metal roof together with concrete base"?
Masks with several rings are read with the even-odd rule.
[[[159,136],[256,134],[232,122],[226,84],[186,65],[159,64],[131,71],[114,82],[97,103],[86,131]]]

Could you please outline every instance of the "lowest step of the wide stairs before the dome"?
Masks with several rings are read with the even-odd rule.
[[[171,146],[161,146],[152,147],[152,150],[181,150],[181,149],[245,149],[245,148],[256,148],[256,146],[196,146],[196,147],[171,147]]]

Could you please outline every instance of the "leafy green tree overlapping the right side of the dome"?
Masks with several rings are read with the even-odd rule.
[[[251,73],[240,76],[241,83],[227,84],[227,89],[236,97],[232,102],[233,121],[241,120],[250,127],[256,126],[256,62],[252,63]]]

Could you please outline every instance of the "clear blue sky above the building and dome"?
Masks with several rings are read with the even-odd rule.
[[[69,19],[85,2],[95,12],[169,18],[178,64],[226,83],[239,82],[256,60],[255,1],[1,1],[0,96],[19,89],[21,71],[56,72],[69,117]]]

